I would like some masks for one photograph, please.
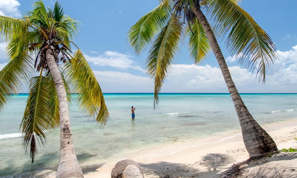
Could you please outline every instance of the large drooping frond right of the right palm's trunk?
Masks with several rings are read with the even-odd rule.
[[[257,70],[259,82],[265,83],[266,68],[277,59],[276,47],[269,35],[234,0],[212,0],[214,28],[222,38],[229,33],[226,45],[238,63]]]

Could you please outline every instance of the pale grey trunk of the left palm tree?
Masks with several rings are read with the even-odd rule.
[[[60,109],[60,161],[56,178],[83,177],[83,172],[75,155],[66,90],[53,52],[46,50],[46,59],[50,73],[56,85]]]

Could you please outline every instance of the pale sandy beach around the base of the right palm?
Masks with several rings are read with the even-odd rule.
[[[263,125],[277,143],[278,149],[296,147],[294,137],[297,136],[297,119]],[[245,150],[242,136],[239,133],[221,133],[216,136],[195,140],[198,146],[188,147],[172,154],[154,158],[140,158],[140,153],[127,155],[128,159],[135,160],[141,166],[146,178],[159,177],[214,177],[220,172],[230,168],[235,163],[249,158]],[[180,144],[180,143],[179,143]],[[187,144],[185,142],[184,144]],[[177,144],[166,145],[166,148],[176,147]],[[151,152],[154,150],[143,150]],[[280,157],[286,159],[286,167],[297,163],[296,153],[281,153]],[[289,158],[286,157],[289,155]],[[282,159],[282,158],[281,158]],[[275,160],[274,160],[275,161]],[[278,165],[279,161],[277,160]],[[273,161],[271,161],[273,162]],[[266,163],[268,166],[268,163]],[[86,178],[110,178],[114,164],[101,166],[96,170],[84,170]],[[295,164],[295,167],[296,164]],[[284,171],[285,172],[285,169]],[[268,175],[268,174],[267,174]]]

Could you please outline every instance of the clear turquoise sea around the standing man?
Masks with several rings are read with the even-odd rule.
[[[27,94],[20,94],[0,116],[0,177],[25,177],[44,169],[56,169],[59,163],[58,131],[50,134],[38,150],[34,164],[25,155],[18,130]],[[151,93],[107,93],[105,101],[110,120],[105,128],[70,106],[75,150],[82,165],[108,164],[125,158],[127,152],[151,146],[182,142],[240,129],[229,94],[168,93],[160,95],[153,109]],[[297,94],[241,94],[260,124],[295,119]],[[135,121],[131,120],[135,106]]]

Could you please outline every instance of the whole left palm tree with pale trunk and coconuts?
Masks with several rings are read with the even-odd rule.
[[[23,146],[32,159],[37,144],[44,145],[50,130],[60,126],[60,161],[56,177],[83,177],[75,155],[69,120],[70,95],[79,93],[79,108],[105,124],[109,113],[102,90],[80,50],[70,43],[79,23],[64,15],[61,4],[53,9],[37,1],[22,19],[0,16],[0,36],[7,43],[8,64],[0,72],[0,111],[12,93],[29,83],[29,96],[20,124]],[[75,45],[76,46],[76,45]],[[73,55],[73,56],[72,56]],[[60,65],[60,61],[65,63]],[[35,72],[39,72],[38,76]]]

